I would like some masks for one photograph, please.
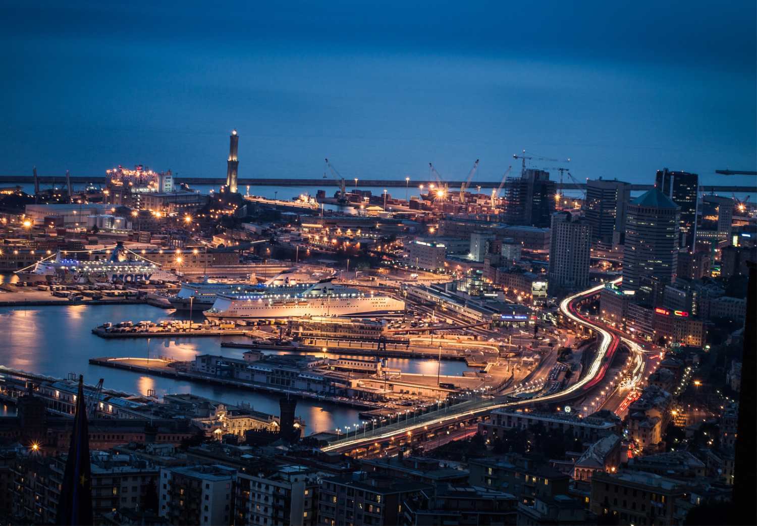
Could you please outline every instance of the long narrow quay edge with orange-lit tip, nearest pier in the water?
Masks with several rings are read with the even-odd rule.
[[[170,366],[170,364],[173,363],[171,360],[163,358],[118,358],[113,356],[104,356],[101,358],[90,358],[89,363],[95,366],[123,369],[126,371],[139,372],[145,375],[164,376],[166,378],[176,378],[179,380],[194,381],[203,384],[223,385],[223,387],[238,387],[239,389],[245,389],[248,391],[260,391],[273,394],[290,394],[296,397],[309,398],[311,400],[320,400],[322,402],[337,403],[344,406],[356,407],[358,409],[377,409],[383,406],[383,404],[381,403],[369,402],[367,400],[357,400],[347,397],[319,394],[313,391],[289,389],[273,384],[260,384],[258,382],[252,381],[239,381],[232,378],[207,375],[198,372],[180,371],[178,368]]]

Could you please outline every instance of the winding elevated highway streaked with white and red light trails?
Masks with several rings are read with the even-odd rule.
[[[620,279],[615,279],[612,281],[612,283],[619,283]],[[372,433],[371,436],[366,437],[355,437],[354,440],[342,440],[335,444],[329,444],[326,447],[323,447],[323,451],[332,451],[332,450],[341,450],[349,447],[359,447],[361,445],[370,444],[372,442],[380,442],[383,440],[390,440],[392,437],[396,437],[400,432],[407,433],[412,435],[413,431],[416,431],[416,429],[423,429],[425,426],[428,425],[438,425],[443,424],[444,422],[455,422],[456,420],[459,420],[461,418],[466,418],[467,416],[477,416],[478,414],[481,414],[481,412],[491,412],[494,409],[502,409],[504,407],[517,407],[517,406],[524,406],[530,403],[534,402],[548,402],[553,400],[563,400],[565,398],[572,397],[577,391],[579,393],[582,393],[585,388],[590,388],[593,386],[593,384],[596,384],[597,381],[600,381],[603,378],[604,373],[607,370],[607,366],[610,362],[610,359],[612,358],[612,353],[615,353],[615,350],[618,347],[618,344],[620,342],[620,338],[618,338],[615,333],[610,332],[606,330],[606,328],[603,328],[600,325],[597,325],[596,323],[591,322],[590,320],[586,319],[584,316],[581,316],[578,312],[575,311],[575,307],[573,306],[573,303],[575,300],[578,300],[581,297],[587,297],[592,296],[593,294],[597,294],[597,292],[601,291],[604,288],[605,284],[597,285],[595,287],[589,288],[586,291],[578,292],[577,294],[573,294],[572,296],[566,297],[564,300],[560,302],[560,311],[561,313],[569,318],[572,319],[574,322],[578,323],[579,325],[584,325],[593,331],[596,331],[598,335],[601,337],[600,345],[597,348],[597,354],[594,356],[593,362],[591,363],[587,374],[584,375],[584,378],[581,378],[575,384],[572,384],[570,387],[565,389],[564,391],[559,391],[558,393],[554,394],[548,394],[544,395],[542,397],[534,397],[530,400],[522,400],[519,402],[498,402],[496,400],[485,400],[481,403],[473,403],[471,404],[470,409],[466,409],[463,412],[452,412],[452,413],[445,413],[443,416],[438,416],[435,419],[430,420],[422,420],[421,422],[416,422],[411,425],[407,425],[403,428],[394,428],[391,431],[388,430],[385,433],[375,434]],[[633,343],[633,342],[631,342]],[[605,358],[607,358],[605,360]]]

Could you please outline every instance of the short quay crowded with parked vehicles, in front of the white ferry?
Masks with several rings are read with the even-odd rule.
[[[164,320],[162,322],[104,323],[92,329],[100,338],[161,338],[171,336],[239,336],[249,331],[245,326],[217,321],[203,323],[188,320]]]

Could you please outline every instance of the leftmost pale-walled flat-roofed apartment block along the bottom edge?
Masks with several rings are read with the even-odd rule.
[[[171,524],[233,524],[236,470],[223,465],[160,469],[160,516]]]

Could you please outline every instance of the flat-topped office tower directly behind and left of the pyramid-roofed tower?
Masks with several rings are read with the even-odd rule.
[[[625,214],[631,201],[631,184],[600,179],[586,184],[586,219],[592,243],[615,245],[625,237]]]

